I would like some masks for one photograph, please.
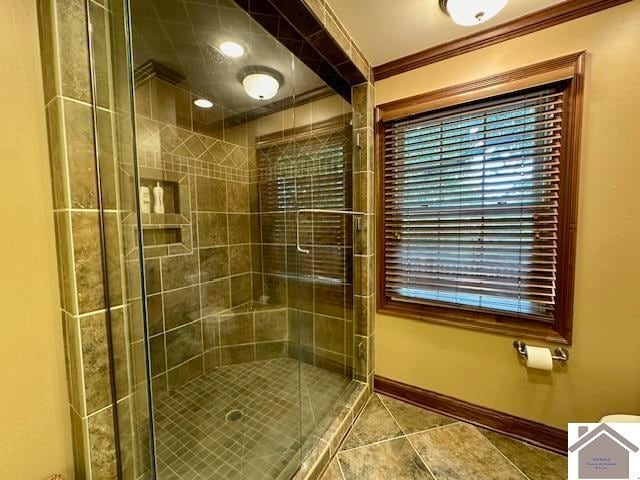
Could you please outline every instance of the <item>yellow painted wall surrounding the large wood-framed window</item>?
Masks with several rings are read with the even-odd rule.
[[[640,1],[376,83],[376,103],[586,50],[574,344],[527,372],[513,338],[377,315],[376,373],[559,428],[640,415]]]

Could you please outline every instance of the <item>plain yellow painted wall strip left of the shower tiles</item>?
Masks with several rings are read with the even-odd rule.
[[[36,2],[0,1],[0,478],[71,479]]]

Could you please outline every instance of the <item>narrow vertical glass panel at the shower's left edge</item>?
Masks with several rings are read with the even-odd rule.
[[[132,97],[122,4],[86,2],[119,478],[153,477]]]

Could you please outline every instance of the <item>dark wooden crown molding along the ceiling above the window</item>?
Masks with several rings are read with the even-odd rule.
[[[375,81],[528,35],[631,0],[566,0],[542,10],[373,67]]]

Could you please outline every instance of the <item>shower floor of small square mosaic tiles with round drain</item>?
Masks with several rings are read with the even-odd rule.
[[[289,478],[301,444],[319,433],[349,383],[281,358],[219,367],[161,394],[154,400],[158,478]],[[239,418],[228,419],[230,412]]]

